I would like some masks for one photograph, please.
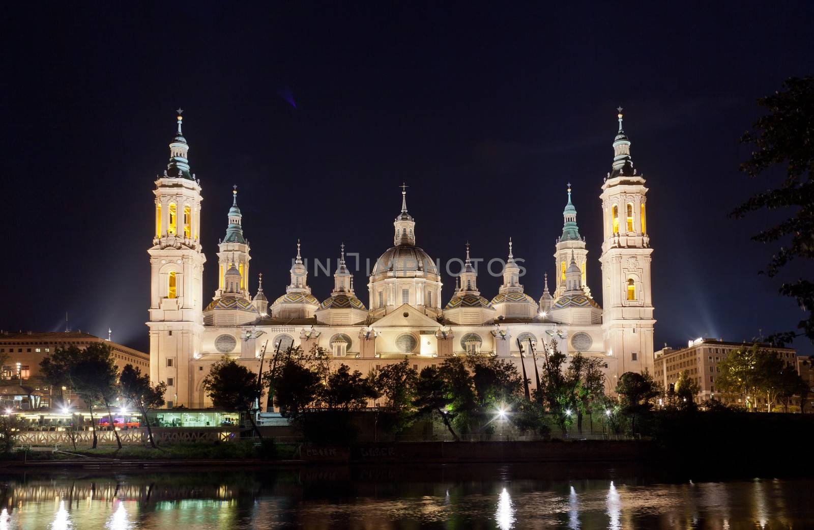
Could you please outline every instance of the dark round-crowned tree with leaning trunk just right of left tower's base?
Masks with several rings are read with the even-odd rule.
[[[204,379],[204,390],[212,399],[212,405],[246,413],[252,423],[252,431],[256,431],[260,440],[263,439],[252,415],[255,403],[263,395],[263,385],[252,370],[239,365],[231,357],[223,356],[209,368],[209,374]]]

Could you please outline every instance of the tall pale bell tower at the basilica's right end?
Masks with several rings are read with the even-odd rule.
[[[616,376],[653,370],[653,296],[645,179],[633,169],[630,140],[617,109],[614,160],[602,185],[602,333]],[[617,379],[614,378],[615,385]]]

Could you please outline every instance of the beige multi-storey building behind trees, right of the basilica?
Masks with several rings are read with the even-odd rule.
[[[654,379],[662,384],[663,388],[670,388],[676,384],[681,372],[688,371],[688,375],[696,383],[700,392],[696,402],[701,403],[708,399],[716,399],[726,404],[757,406],[758,410],[766,409],[765,396],[731,396],[716,391],[716,380],[720,376],[720,362],[726,359],[733,350],[749,348],[751,344],[740,342],[725,342],[723,339],[698,338],[689,340],[686,348],[673,349],[665,346],[655,353]],[[794,366],[799,372],[799,358],[792,348],[775,348],[770,344],[760,344],[770,352],[777,354],[786,364]],[[800,372],[799,372],[800,373]],[[799,410],[799,400],[793,403]]]

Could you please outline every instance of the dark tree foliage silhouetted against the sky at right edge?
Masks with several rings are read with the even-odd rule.
[[[751,143],[754,151],[740,169],[754,178],[772,173],[776,164],[785,164],[786,178],[777,188],[747,199],[730,216],[741,218],[764,209],[791,212],[784,221],[751,238],[781,244],[762,271],[772,278],[794,259],[814,258],[814,77],[790,77],[782,90],[758,99],[758,105],[769,113],[755,121],[755,130],[743,134],[741,142]],[[807,267],[809,272],[812,269]],[[772,342],[787,344],[799,335],[814,342],[814,282],[800,278],[783,283],[780,293],[794,298],[807,317],[798,322],[798,331],[772,335]]]

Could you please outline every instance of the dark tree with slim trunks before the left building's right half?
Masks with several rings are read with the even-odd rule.
[[[93,425],[94,433],[93,448],[96,449],[98,444],[94,405],[103,404],[107,407],[107,419],[116,436],[116,444],[121,449],[119,432],[113,425],[113,414],[110,408],[116,395],[118,381],[118,369],[110,345],[98,342],[81,350],[68,365],[68,380],[74,392],[77,392],[77,396],[85,401],[85,405],[88,405],[90,423]]]

